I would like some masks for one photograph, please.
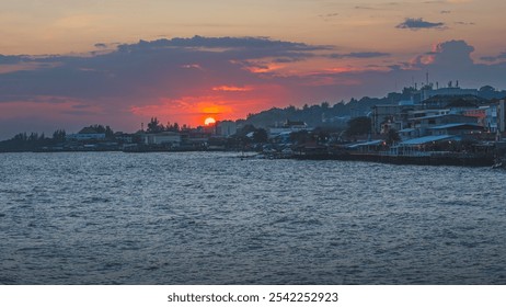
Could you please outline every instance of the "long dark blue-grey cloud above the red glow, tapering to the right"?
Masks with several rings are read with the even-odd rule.
[[[208,82],[208,73],[217,80],[233,77],[252,79],[254,76],[243,69],[249,60],[274,58],[279,62],[299,61],[314,56],[313,52],[329,48],[263,37],[194,36],[140,41],[92,57],[48,56],[34,59],[48,67],[3,75],[0,78],[3,90],[0,95],[93,99],[169,94],[186,91],[188,84],[198,87]],[[0,57],[2,64],[20,60],[20,57]],[[202,69],[186,68],[195,65]],[[188,80],[192,82],[188,83]]]

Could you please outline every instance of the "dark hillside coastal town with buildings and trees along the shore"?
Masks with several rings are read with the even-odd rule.
[[[195,128],[163,125],[151,117],[136,133],[92,125],[74,134],[56,130],[53,138],[19,134],[0,143],[0,151],[222,150],[255,152],[255,157],[271,159],[499,167],[506,152],[506,102],[502,94],[488,86],[463,89],[458,81],[444,88],[427,83],[422,89],[404,89],[402,95],[389,94],[388,103],[352,107],[341,114],[331,109],[342,105],[331,107],[327,103],[285,110],[307,115],[306,110],[318,109],[311,124],[298,113],[261,125],[253,124],[252,115],[240,121],[211,121]]]

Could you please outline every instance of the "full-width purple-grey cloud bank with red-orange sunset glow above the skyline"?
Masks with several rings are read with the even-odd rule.
[[[209,114],[234,120],[273,106],[380,96],[425,80],[427,71],[441,83],[506,87],[505,54],[476,64],[474,47],[463,41],[440,43],[411,60],[267,37],[114,46],[83,56],[0,55],[0,139],[90,124],[133,132],[151,116],[195,126]]]

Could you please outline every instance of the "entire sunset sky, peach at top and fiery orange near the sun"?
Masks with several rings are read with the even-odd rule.
[[[459,80],[506,89],[504,0],[2,0],[0,139]]]

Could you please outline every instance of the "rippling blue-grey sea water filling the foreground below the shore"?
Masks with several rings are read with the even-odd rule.
[[[0,155],[0,284],[506,284],[506,172]]]

